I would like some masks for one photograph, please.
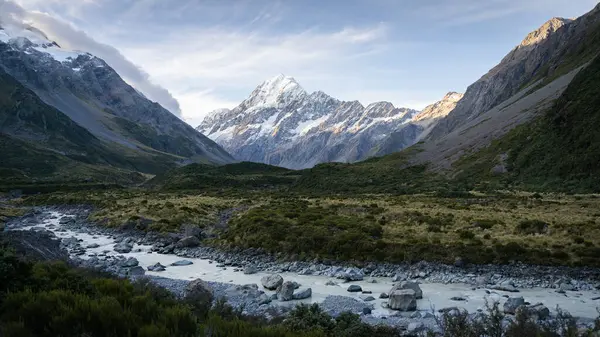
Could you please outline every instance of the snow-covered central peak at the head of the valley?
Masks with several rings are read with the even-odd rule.
[[[389,102],[364,107],[322,91],[307,93],[294,78],[278,75],[236,108],[210,113],[197,130],[238,160],[298,169],[382,154],[380,145],[392,136],[394,145],[387,153],[410,146],[425,129],[419,123],[430,120],[422,116],[419,123],[412,123],[417,114]]]

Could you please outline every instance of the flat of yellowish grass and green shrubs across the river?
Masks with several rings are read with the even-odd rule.
[[[314,197],[277,193],[65,192],[27,205],[94,206],[109,228],[198,233],[281,259],[600,267],[600,198],[506,192]]]

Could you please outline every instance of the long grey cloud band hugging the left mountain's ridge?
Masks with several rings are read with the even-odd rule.
[[[90,0],[87,1],[93,3]],[[100,57],[114,68],[125,81],[144,93],[150,100],[158,102],[173,114],[181,116],[179,103],[168,90],[154,84],[145,71],[125,58],[116,48],[97,42],[70,23],[47,13],[25,10],[18,4],[6,0],[0,0],[0,18],[11,23],[26,23],[34,26],[63,48],[82,50]]]

